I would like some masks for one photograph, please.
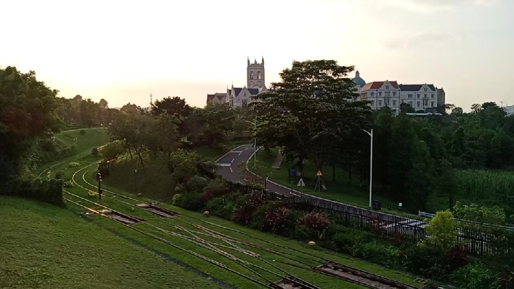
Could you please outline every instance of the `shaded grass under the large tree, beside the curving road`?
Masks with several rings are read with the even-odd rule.
[[[305,187],[298,187],[298,181],[295,183],[289,182],[288,172],[289,168],[291,168],[296,161],[284,161],[280,169],[273,169],[271,166],[273,165],[274,160],[277,158],[278,149],[271,149],[270,153],[267,153],[264,150],[260,150],[257,152],[257,164],[255,168],[253,168],[253,160],[248,163],[248,169],[253,173],[265,177],[269,176],[269,180],[283,185],[291,187],[295,190],[323,197],[328,200],[333,200],[345,204],[350,204],[359,207],[369,207],[369,189],[368,183],[360,184],[359,176],[353,175],[352,179],[348,178],[348,172],[341,169],[336,168],[336,180],[333,180],[333,169],[332,167],[326,167],[325,171],[322,172],[324,182],[326,184],[327,190],[315,190],[316,186],[316,171],[313,166],[309,164],[307,160],[304,161],[304,172],[306,177],[303,178],[305,182]],[[381,195],[379,193],[373,193],[373,200],[379,200],[382,204],[382,210],[387,211],[387,207],[391,206],[392,212],[398,212],[396,209],[398,208],[398,202],[392,200],[388,196]],[[405,213],[405,212],[401,212]]]

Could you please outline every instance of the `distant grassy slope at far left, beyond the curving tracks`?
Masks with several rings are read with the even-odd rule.
[[[56,134],[56,139],[59,140],[63,146],[73,146],[75,148],[75,155],[50,162],[49,164],[44,164],[36,169],[34,173],[39,174],[46,172],[49,167],[56,166],[57,164],[61,163],[67,164],[74,159],[86,156],[91,153],[93,148],[103,146],[105,143],[111,140],[111,137],[109,137],[109,134],[107,133],[107,128],[83,129],[86,132],[84,135],[80,134],[81,130],[82,129],[68,130]],[[77,140],[75,140],[75,138]],[[54,168],[51,168],[50,170],[52,172],[56,171]]]

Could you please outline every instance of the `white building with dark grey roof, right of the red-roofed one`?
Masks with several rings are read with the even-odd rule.
[[[433,84],[400,84],[400,99],[416,111],[437,108],[437,89]]]

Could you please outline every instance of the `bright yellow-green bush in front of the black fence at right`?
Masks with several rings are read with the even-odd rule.
[[[453,248],[457,243],[457,231],[451,211],[438,211],[435,216],[427,220],[425,230],[429,237],[424,241],[431,246],[444,251]]]

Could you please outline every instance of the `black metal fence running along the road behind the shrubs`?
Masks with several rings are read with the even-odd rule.
[[[325,200],[317,200],[315,198],[285,196],[241,183],[228,182],[228,184],[231,190],[238,190],[245,194],[252,192],[262,193],[269,200],[280,200],[288,207],[304,211],[320,211],[328,215],[335,224],[371,231],[383,237],[419,242],[428,236],[425,230],[426,222],[418,216],[384,213]],[[499,239],[510,238],[512,240],[514,236],[510,233],[497,234],[487,229],[481,230],[480,228],[458,227],[455,229],[458,232],[458,242],[463,244],[472,255],[484,256],[497,254],[499,250],[503,253],[514,250],[514,248],[509,249],[507,247],[505,249],[492,245]]]

